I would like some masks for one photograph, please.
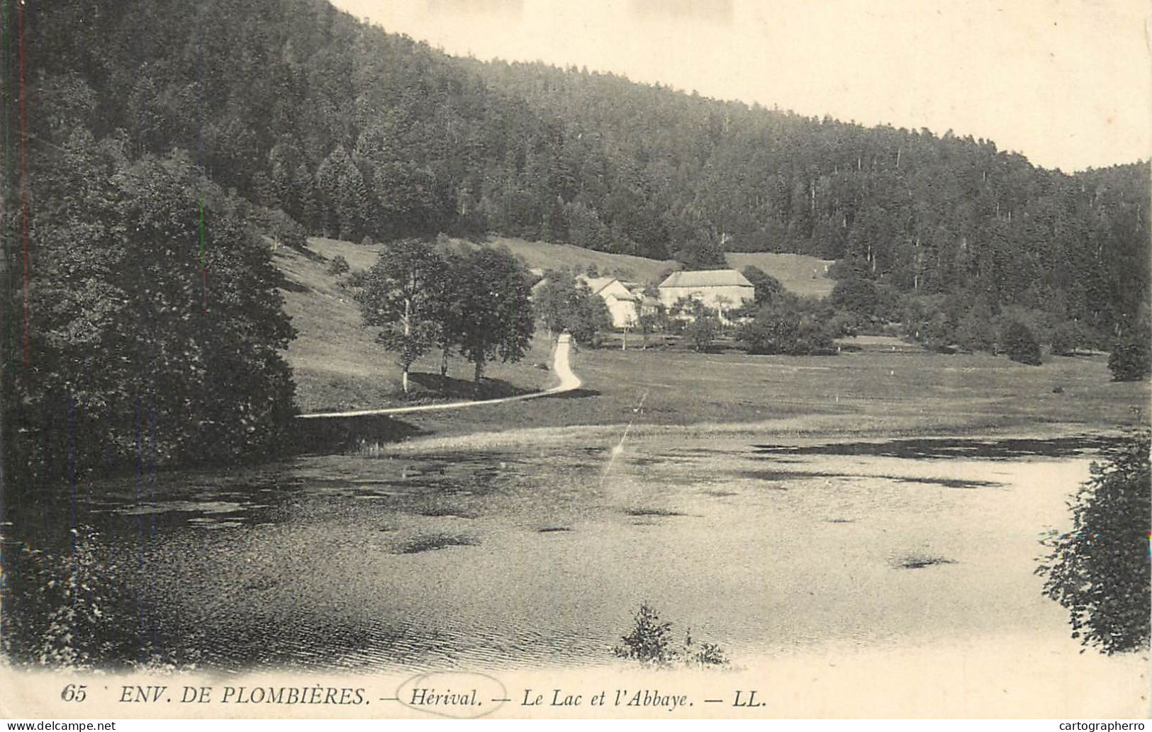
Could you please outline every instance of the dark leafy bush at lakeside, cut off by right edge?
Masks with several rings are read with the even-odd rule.
[[[1092,478],[1069,504],[1073,531],[1053,532],[1037,567],[1044,594],[1070,613],[1073,638],[1106,654],[1149,642],[1150,433],[1134,435],[1092,464]]]

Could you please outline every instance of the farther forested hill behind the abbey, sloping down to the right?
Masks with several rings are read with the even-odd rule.
[[[1104,328],[1146,297],[1146,165],[1069,176],[952,134],[806,119],[576,69],[462,64],[562,124],[574,209],[634,235],[604,243],[569,228],[576,244],[654,256],[667,244],[708,261],[721,247],[848,259],[899,290],[965,291]],[[606,169],[613,184],[598,188]]]

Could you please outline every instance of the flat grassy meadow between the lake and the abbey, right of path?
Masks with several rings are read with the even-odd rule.
[[[584,387],[531,404],[406,420],[439,436],[612,426],[590,440],[677,432],[776,435],[1109,430],[1146,420],[1147,382],[1113,382],[1105,354],[1024,366],[987,354],[862,351],[828,357],[583,350]],[[1056,388],[1062,392],[1054,392]],[[480,437],[464,439],[476,441]],[[562,437],[558,437],[562,439]]]

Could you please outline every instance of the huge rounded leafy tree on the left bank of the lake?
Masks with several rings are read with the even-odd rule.
[[[119,151],[78,129],[32,182],[36,378],[16,419],[36,440],[12,447],[55,466],[267,453],[295,414],[268,247],[187,155]]]

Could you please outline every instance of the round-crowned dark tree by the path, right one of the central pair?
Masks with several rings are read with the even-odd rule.
[[[456,282],[458,345],[479,382],[487,361],[518,361],[528,352],[535,329],[529,275],[506,247],[483,246],[461,256]]]

